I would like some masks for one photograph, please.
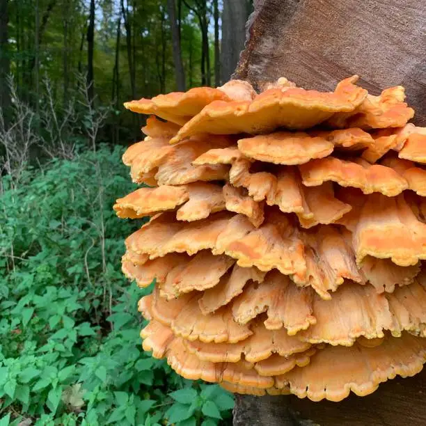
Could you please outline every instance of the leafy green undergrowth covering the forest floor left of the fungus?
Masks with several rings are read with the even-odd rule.
[[[137,301],[120,271],[113,201],[134,189],[120,149],[2,178],[0,426],[230,424],[232,395],[182,379],[141,349]]]

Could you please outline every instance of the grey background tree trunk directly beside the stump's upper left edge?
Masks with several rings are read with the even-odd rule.
[[[283,2],[281,1],[281,5]],[[282,6],[284,7],[284,6]],[[247,19],[246,0],[223,0],[221,80],[228,81],[244,49]]]

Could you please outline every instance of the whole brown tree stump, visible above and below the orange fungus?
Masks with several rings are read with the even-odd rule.
[[[303,88],[333,90],[358,74],[379,95],[406,88],[426,126],[426,7],[418,0],[255,0],[234,78],[258,90],[287,77]],[[235,426],[426,425],[426,372],[381,384],[367,397],[310,402],[294,396],[237,395]]]

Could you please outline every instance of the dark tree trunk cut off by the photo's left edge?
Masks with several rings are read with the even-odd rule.
[[[10,104],[7,84],[7,76],[10,72],[8,22],[8,0],[0,0],[0,108],[3,110]]]

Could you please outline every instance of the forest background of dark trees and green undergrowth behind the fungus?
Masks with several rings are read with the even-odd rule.
[[[0,426],[231,423],[232,395],[141,349],[114,200],[144,118],[227,81],[248,0],[0,0]]]

